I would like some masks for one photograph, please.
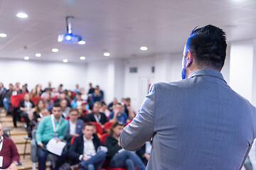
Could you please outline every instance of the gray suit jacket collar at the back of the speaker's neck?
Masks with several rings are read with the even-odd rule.
[[[188,79],[190,79],[192,77],[198,77],[198,76],[210,76],[210,77],[215,77],[215,78],[225,81],[225,79],[223,78],[223,74],[221,74],[219,71],[217,71],[215,69],[198,69],[196,72],[193,72],[188,77]],[[227,82],[225,81],[225,83],[227,83]]]

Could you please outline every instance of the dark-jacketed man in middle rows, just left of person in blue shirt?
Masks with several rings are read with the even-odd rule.
[[[97,122],[102,125],[104,128],[104,124],[108,121],[107,116],[104,113],[100,113],[100,102],[96,101],[93,105],[93,112],[89,114],[88,118],[89,122]]]

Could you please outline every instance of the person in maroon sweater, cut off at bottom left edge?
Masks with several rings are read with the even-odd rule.
[[[0,169],[17,170],[19,154],[16,145],[9,137],[3,137],[4,130],[0,123]]]

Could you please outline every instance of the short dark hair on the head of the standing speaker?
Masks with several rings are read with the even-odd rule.
[[[194,28],[186,45],[195,55],[198,66],[222,69],[227,48],[225,33],[222,29],[211,25]]]

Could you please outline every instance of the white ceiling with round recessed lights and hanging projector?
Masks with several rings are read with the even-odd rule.
[[[28,18],[16,17],[21,11]],[[66,33],[66,16],[74,16],[73,33],[82,35],[85,45],[58,42]],[[182,55],[191,30],[207,24],[223,28],[228,42],[256,38],[256,1],[0,0],[0,33],[7,35],[0,38],[0,59],[78,63]],[[139,50],[142,46],[148,50]],[[54,47],[59,52],[52,52]]]

